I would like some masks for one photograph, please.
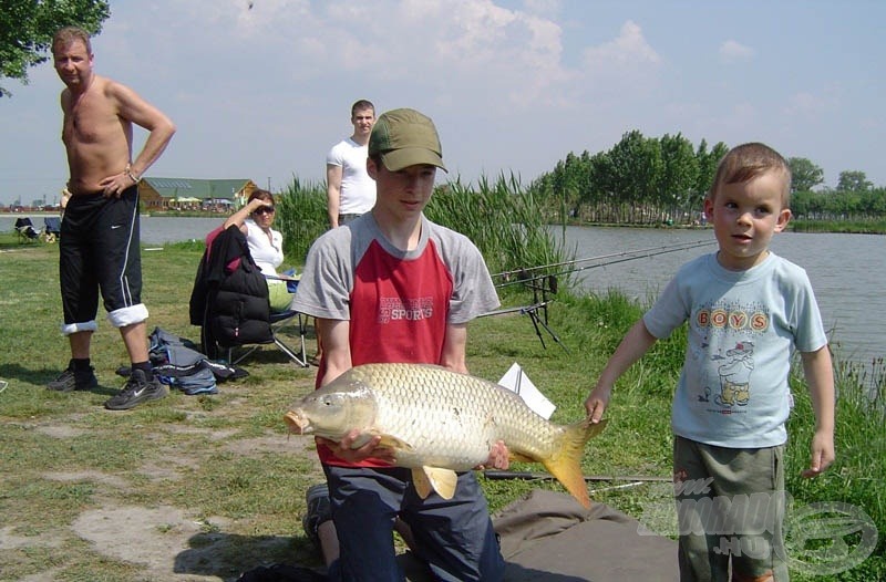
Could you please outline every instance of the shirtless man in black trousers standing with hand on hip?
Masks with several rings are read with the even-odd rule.
[[[52,41],[55,71],[66,89],[62,142],[68,153],[71,198],[62,219],[59,273],[64,324],[71,344],[68,370],[48,385],[71,392],[97,386],[90,365],[101,289],[107,320],[120,330],[132,362],[123,389],[104,403],[114,410],[164,397],[153,374],[141,300],[138,180],[166,148],[175,125],[131,89],[93,71],[89,34],[66,27]],[[132,159],[133,124],[150,132]]]

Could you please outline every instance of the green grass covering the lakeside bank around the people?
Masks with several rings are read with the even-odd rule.
[[[200,253],[189,243],[143,253],[151,329],[198,339],[198,329],[187,321],[187,303]],[[250,375],[220,384],[216,396],[174,393],[130,412],[107,412],[102,403],[122,384],[114,370],[126,356],[103,319],[93,339],[101,387],[73,394],[43,387],[69,358],[59,332],[58,246],[18,245],[14,236],[0,235],[0,380],[9,382],[0,392],[0,537],[30,541],[0,544],[0,580],[171,579],[100,552],[73,529],[84,513],[130,507],[172,507],[185,516],[182,523],[157,523],[154,533],[162,538],[186,524],[195,528],[184,553],[210,549],[213,554],[186,573],[235,580],[238,571],[261,563],[318,563],[300,519],[305,490],[322,478],[319,464],[312,444],[288,437],[281,419],[290,401],[312,389],[315,368],[295,367],[274,347],[262,347],[244,363]],[[506,297],[509,304],[526,299],[517,291]],[[481,318],[470,328],[468,366],[477,376],[497,380],[518,362],[557,404],[553,419],[576,420],[607,357],[640,313],[640,305],[617,294],[574,297],[565,290],[550,306],[549,323],[568,353],[547,335],[543,349],[525,316]],[[587,475],[670,476],[670,398],[684,341],[678,332],[659,342],[621,378],[607,412],[609,425],[586,449]],[[838,370],[837,461],[815,480],[799,477],[808,463],[813,422],[802,381],[793,381],[797,404],[789,426],[787,488],[797,503],[842,501],[863,508],[880,532],[874,557],[815,580],[883,580],[884,405],[882,395],[874,403],[863,396],[859,383],[873,380],[882,386],[884,368],[880,362],[870,370]],[[552,480],[482,482],[493,510],[535,487],[562,490]],[[641,520],[671,507],[668,482],[612,488],[618,485],[624,481],[593,481],[591,498]]]

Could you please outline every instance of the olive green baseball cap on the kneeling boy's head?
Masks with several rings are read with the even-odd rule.
[[[380,156],[384,167],[391,172],[419,164],[430,164],[447,172],[434,122],[415,110],[382,113],[369,136],[369,155]]]

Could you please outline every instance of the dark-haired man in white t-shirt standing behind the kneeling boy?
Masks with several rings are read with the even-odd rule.
[[[375,205],[375,180],[367,174],[367,146],[375,124],[375,106],[360,100],[351,106],[353,135],[326,156],[329,226],[347,225]]]

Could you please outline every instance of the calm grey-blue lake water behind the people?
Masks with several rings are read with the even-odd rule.
[[[42,228],[41,215],[31,219]],[[222,220],[143,217],[142,242],[199,240]],[[16,216],[0,216],[0,231],[13,230],[14,222]],[[628,297],[651,300],[682,263],[712,252],[713,241],[710,230],[568,227],[567,246],[580,261],[563,270],[579,269],[574,274],[588,291],[619,289]],[[684,250],[673,250],[680,248]],[[783,232],[773,237],[772,250],[808,273],[825,325],[833,330],[833,345],[843,358],[868,364],[886,355],[882,334],[886,236]]]

